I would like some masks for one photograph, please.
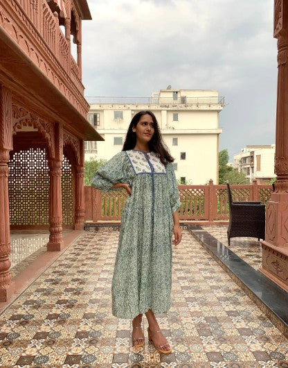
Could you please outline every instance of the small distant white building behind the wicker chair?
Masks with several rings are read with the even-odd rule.
[[[274,173],[275,144],[246,146],[234,156],[235,168],[252,183],[264,184],[276,177]]]

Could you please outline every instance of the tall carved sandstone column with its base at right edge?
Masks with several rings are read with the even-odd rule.
[[[274,37],[278,39],[276,111],[276,190],[267,203],[262,271],[288,291],[288,3],[275,0]]]

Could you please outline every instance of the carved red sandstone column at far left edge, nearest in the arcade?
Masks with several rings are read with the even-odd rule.
[[[8,196],[8,160],[12,149],[12,98],[11,93],[0,85],[0,301],[8,301],[15,292],[11,281],[9,255],[10,216]]]

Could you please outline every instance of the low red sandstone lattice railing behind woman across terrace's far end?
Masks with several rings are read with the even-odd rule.
[[[266,203],[271,196],[271,185],[231,185],[235,201],[261,201]],[[85,190],[85,221],[100,223],[120,221],[127,193],[125,190],[100,192],[93,187]],[[179,185],[181,221],[199,224],[225,224],[229,219],[228,192],[226,185]]]

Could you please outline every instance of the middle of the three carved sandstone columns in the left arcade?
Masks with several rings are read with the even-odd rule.
[[[63,131],[60,124],[55,124],[55,158],[49,160],[50,192],[49,192],[49,221],[50,237],[47,244],[48,251],[61,251],[62,238],[62,156]]]

